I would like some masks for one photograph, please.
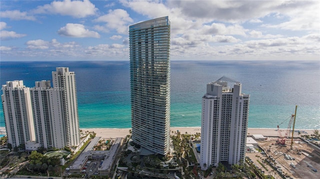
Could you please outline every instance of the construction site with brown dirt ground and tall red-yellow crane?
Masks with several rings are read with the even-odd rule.
[[[264,136],[257,140],[260,152],[246,154],[258,162],[266,175],[276,179],[320,179],[320,148],[307,139],[293,137],[295,114],[287,129],[279,129],[278,136]],[[283,134],[282,134],[283,133]]]

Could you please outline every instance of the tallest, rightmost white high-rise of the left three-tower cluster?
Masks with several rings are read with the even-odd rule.
[[[78,146],[79,119],[74,72],[68,67],[52,71],[53,88],[50,90],[52,131],[55,148]]]

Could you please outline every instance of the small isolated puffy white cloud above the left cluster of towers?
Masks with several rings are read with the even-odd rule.
[[[100,38],[100,35],[95,31],[90,31],[84,28],[84,25],[78,23],[67,23],[64,27],[58,30],[58,34],[68,37],[94,37]]]

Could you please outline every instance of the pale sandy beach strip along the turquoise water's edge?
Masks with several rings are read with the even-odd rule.
[[[96,133],[96,136],[102,137],[102,138],[116,138],[116,137],[125,137],[129,134],[130,128],[127,129],[111,129],[111,128],[93,128],[93,129],[81,129],[82,131],[93,131]],[[181,134],[196,134],[201,133],[200,127],[171,127],[171,131],[173,133],[177,132],[177,130]],[[300,131],[301,135],[305,134],[312,134],[312,130],[301,130],[296,129],[296,132],[294,132],[294,137],[298,137],[297,131]],[[304,132],[302,132],[304,131]],[[278,132],[276,129],[267,129],[267,128],[248,128],[248,135],[251,136],[253,134],[261,134],[263,136],[278,136]],[[281,129],[282,136],[285,135],[285,129]],[[291,135],[291,133],[290,133]]]

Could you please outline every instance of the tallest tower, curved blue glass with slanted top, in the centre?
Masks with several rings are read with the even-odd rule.
[[[129,27],[132,140],[166,155],[170,141],[170,21],[168,16]]]

